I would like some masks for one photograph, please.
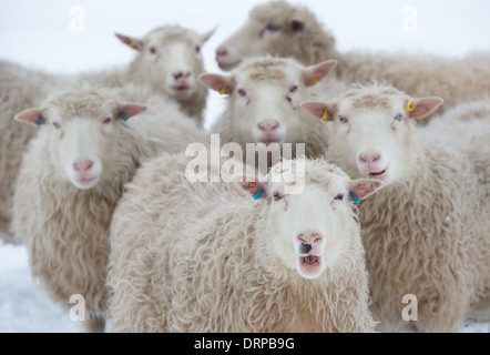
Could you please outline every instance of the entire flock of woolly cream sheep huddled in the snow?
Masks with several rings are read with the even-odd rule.
[[[348,52],[325,23],[264,0],[221,72],[220,28],[175,23],[115,33],[120,68],[0,58],[0,244],[89,333],[489,323],[490,51]]]

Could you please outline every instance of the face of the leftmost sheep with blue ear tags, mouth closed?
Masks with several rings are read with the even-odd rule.
[[[119,171],[118,140],[129,129],[122,116],[126,120],[143,110],[95,92],[73,92],[54,97],[41,109],[23,111],[16,120],[41,126],[49,140],[47,163],[54,165],[58,179],[86,190]]]

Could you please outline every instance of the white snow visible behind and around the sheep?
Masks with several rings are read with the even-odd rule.
[[[143,36],[164,23],[200,32],[218,26],[203,47],[208,72],[222,72],[214,51],[243,23],[259,0],[0,0],[0,59],[53,73],[125,65],[133,52],[113,36]],[[310,8],[333,30],[340,51],[428,52],[461,57],[490,51],[490,2],[482,0],[292,0]],[[84,12],[78,32],[76,13]],[[410,13],[417,21],[410,22]],[[416,24],[416,26],[415,26]],[[450,73],[448,73],[450,74]],[[433,93],[437,94],[437,93]],[[224,109],[210,93],[206,128]],[[23,246],[0,243],[0,332],[78,332],[69,311],[53,304],[30,277]],[[461,332],[490,333],[490,323],[468,323]]]

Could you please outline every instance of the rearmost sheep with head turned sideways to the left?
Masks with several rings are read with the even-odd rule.
[[[417,97],[438,92],[445,98],[439,112],[490,93],[488,53],[452,59],[419,52],[338,52],[334,36],[315,13],[286,1],[256,6],[248,20],[217,48],[216,61],[223,70],[229,70],[243,58],[265,53],[293,57],[305,65],[335,59],[337,79],[349,84],[384,80]]]

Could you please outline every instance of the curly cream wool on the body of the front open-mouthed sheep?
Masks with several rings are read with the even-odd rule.
[[[185,163],[147,163],[114,213],[108,284],[116,332],[372,331],[357,223],[343,262],[302,278],[267,252],[266,206],[236,184],[186,183]]]

